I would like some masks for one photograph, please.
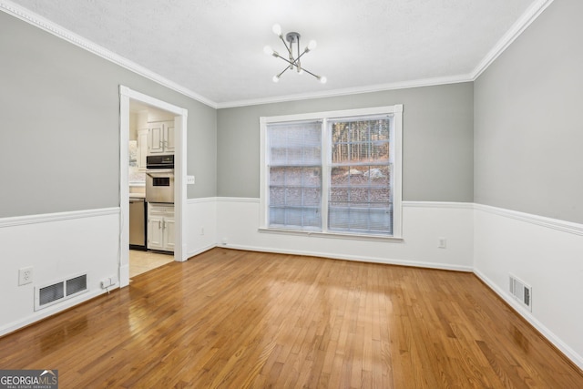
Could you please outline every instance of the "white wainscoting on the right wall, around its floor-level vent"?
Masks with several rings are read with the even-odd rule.
[[[583,226],[475,205],[474,272],[583,369]],[[509,276],[532,288],[530,312]]]

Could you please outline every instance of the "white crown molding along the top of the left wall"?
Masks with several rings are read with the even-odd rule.
[[[36,15],[35,13],[29,11],[28,9],[20,5],[15,5],[14,3],[8,0],[0,0],[0,11],[4,11],[8,15],[13,15],[16,18],[23,20],[32,26],[36,26],[46,31],[47,33],[60,37],[61,39],[66,40],[66,42],[81,47],[92,54],[100,56],[106,59],[107,61],[113,62],[114,64],[120,67],[124,67],[138,74],[139,76],[146,77],[149,80],[154,81],[164,87],[168,87],[176,92],[179,92],[180,94],[186,97],[190,97],[194,100],[199,101],[202,104],[205,104],[213,108],[217,107],[217,103],[210,100],[209,98],[200,96],[198,93],[195,93],[186,87],[182,87],[179,84],[175,83],[174,81],[170,81],[168,78],[162,77],[159,74],[154,73],[151,70],[148,70],[146,67],[142,67],[123,56],[119,56],[118,54],[107,50],[107,48],[91,42],[90,40],[84,38],[83,36],[78,36],[72,31],[69,31],[62,26],[58,26],[56,23],[51,22],[50,20],[46,19],[41,15]]]

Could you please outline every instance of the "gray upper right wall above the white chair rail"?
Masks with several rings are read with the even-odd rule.
[[[476,202],[583,222],[581,15],[555,1],[476,80]]]

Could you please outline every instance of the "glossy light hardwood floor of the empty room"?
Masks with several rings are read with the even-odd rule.
[[[583,388],[474,274],[213,249],[0,339],[62,388]]]

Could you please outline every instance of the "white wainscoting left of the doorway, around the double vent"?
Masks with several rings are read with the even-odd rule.
[[[119,286],[119,209],[82,210],[0,219],[0,335],[87,301],[100,282]],[[19,269],[32,282],[18,285]],[[35,287],[87,273],[87,292],[35,312]]]

